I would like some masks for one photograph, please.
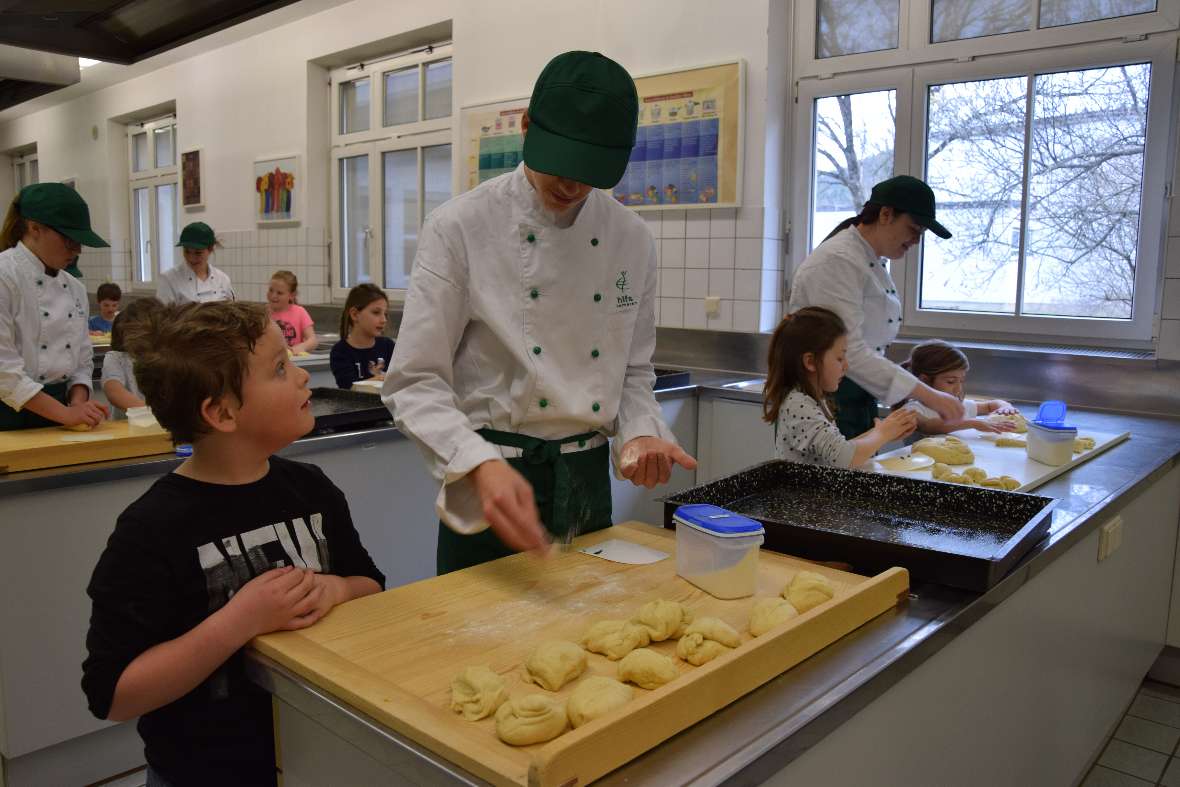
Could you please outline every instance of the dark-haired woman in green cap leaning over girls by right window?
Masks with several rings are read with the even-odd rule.
[[[835,392],[835,422],[848,439],[873,427],[878,399],[916,399],[948,421],[963,418],[963,402],[885,358],[902,328],[902,301],[885,260],[902,260],[926,229],[951,236],[935,221],[930,186],[899,175],[874,185],[860,214],[838,224],[795,271],[788,310],[825,307],[848,330],[848,374]]]

